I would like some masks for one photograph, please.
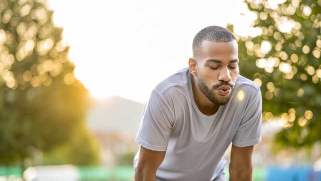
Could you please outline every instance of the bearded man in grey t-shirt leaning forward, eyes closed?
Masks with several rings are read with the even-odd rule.
[[[262,101],[238,63],[228,30],[210,26],[197,33],[189,68],[159,83],[146,104],[135,181],[226,180],[223,155],[231,142],[230,180],[251,180]]]

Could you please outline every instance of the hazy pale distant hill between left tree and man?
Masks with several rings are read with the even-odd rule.
[[[94,132],[126,132],[135,135],[144,110],[144,104],[112,96],[95,100],[89,110],[87,123]]]

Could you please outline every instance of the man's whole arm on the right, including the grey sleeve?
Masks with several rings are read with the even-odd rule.
[[[251,89],[247,92],[250,93]],[[262,98],[260,89],[248,96],[244,103],[246,110],[232,140],[230,181],[252,180],[253,145],[261,141]]]

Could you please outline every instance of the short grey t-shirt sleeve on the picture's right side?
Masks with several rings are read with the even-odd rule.
[[[261,141],[261,115],[262,97],[259,89],[247,103],[243,118],[232,140],[233,145],[246,147]]]

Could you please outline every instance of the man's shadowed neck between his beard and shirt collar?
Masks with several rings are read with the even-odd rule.
[[[197,84],[197,77],[192,76],[192,92],[196,106],[205,115],[213,115],[219,109],[219,105],[213,104],[201,91]]]

